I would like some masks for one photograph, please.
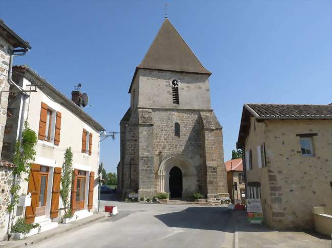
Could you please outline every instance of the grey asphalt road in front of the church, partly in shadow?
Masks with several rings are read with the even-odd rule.
[[[102,199],[112,199],[103,196]],[[101,201],[119,214],[34,247],[230,247],[230,210],[215,206]]]

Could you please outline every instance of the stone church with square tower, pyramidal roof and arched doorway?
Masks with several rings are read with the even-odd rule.
[[[117,189],[126,197],[168,192],[208,199],[227,194],[222,127],[210,102],[209,76],[165,19],[136,67],[130,107],[120,122]]]

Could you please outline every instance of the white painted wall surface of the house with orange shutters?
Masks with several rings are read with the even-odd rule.
[[[23,79],[23,88],[30,89],[27,85],[31,82],[26,78]],[[37,88],[37,92],[32,92],[26,102],[25,120],[28,120],[29,126],[34,130],[38,136],[39,131],[39,119],[40,119],[40,108],[41,102],[44,102],[55,111],[61,112],[61,132],[60,132],[60,144],[58,146],[51,142],[38,140],[36,145],[36,156],[34,163],[41,164],[43,166],[50,167],[49,173],[49,184],[48,184],[48,203],[46,204],[45,218],[50,216],[50,204],[51,204],[51,192],[53,184],[53,171],[54,167],[62,167],[64,161],[65,150],[68,147],[72,148],[73,152],[73,168],[87,171],[87,180],[85,187],[85,206],[87,209],[88,201],[88,182],[89,173],[94,172],[94,191],[93,191],[93,208],[97,208],[98,204],[98,166],[99,166],[99,132],[87,123],[83,122],[79,117],[70,112],[65,106],[56,102],[48,95],[44,94],[40,89]],[[28,114],[29,107],[29,114]],[[88,155],[82,153],[82,132],[83,128],[88,132],[92,133],[92,154]],[[27,175],[26,175],[27,177]],[[20,194],[27,194],[28,182],[23,181],[21,183]],[[60,197],[59,205],[62,208],[62,200]]]

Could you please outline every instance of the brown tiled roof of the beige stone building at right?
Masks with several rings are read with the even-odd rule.
[[[243,105],[242,117],[240,123],[237,148],[241,148],[246,140],[250,129],[250,117],[254,117],[257,122],[264,120],[324,120],[332,119],[332,105],[318,104],[254,104],[247,103]]]

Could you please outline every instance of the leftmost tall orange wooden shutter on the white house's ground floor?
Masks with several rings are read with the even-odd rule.
[[[31,192],[31,205],[26,208],[26,223],[31,224],[35,221],[36,206],[38,203],[38,187],[39,187],[39,164],[31,164],[29,184],[28,184],[28,194]]]

